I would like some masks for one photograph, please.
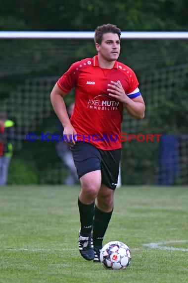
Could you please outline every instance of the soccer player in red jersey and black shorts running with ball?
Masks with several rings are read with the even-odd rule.
[[[117,62],[120,35],[116,25],[98,26],[94,34],[97,55],[72,64],[50,95],[81,183],[79,251],[94,262],[100,261],[102,240],[114,207],[123,108],[136,119],[143,119],[145,111],[136,74]],[[69,120],[63,98],[74,87],[75,107]]]

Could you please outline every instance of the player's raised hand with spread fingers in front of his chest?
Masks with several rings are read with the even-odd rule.
[[[116,98],[122,103],[126,103],[129,100],[120,81],[115,82],[111,80],[110,83],[108,83],[108,87],[107,91],[109,92],[109,96]]]

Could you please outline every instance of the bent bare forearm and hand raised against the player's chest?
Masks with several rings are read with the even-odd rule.
[[[108,87],[107,91],[109,92],[109,96],[112,96],[122,102],[130,116],[136,119],[144,118],[145,104],[141,93],[139,93],[139,96],[137,97],[130,98],[125,93],[122,85],[115,81],[111,81],[110,84],[108,84]]]

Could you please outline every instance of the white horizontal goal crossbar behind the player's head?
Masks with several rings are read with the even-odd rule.
[[[91,39],[93,31],[0,31],[0,39]],[[121,39],[188,39],[187,31],[122,31]]]

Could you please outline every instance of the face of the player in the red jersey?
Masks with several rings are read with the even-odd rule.
[[[101,44],[96,43],[96,51],[104,60],[111,62],[118,59],[120,54],[120,40],[116,33],[105,33]]]

